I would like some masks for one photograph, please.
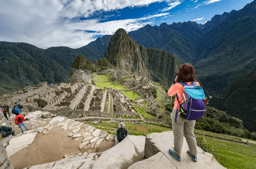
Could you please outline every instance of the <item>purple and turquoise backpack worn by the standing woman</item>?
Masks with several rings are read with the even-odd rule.
[[[184,93],[182,94],[182,103],[178,101],[180,105],[180,117],[186,120],[198,120],[203,117],[206,111],[206,100],[204,90],[202,87],[192,82],[190,85],[180,82],[184,86]],[[176,94],[177,100],[179,100]],[[175,122],[177,121],[178,107],[175,116]]]

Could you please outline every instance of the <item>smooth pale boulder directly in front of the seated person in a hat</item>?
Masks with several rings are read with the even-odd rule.
[[[144,157],[144,136],[128,135],[99,157],[92,169],[127,169]]]

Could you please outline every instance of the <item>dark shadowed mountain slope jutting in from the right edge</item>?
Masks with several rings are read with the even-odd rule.
[[[246,75],[235,80],[224,98],[212,97],[211,106],[242,119],[244,127],[256,131],[256,65]]]

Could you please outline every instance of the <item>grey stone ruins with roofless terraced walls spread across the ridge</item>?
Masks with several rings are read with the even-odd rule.
[[[135,101],[138,104],[148,102],[147,105],[150,106],[148,113],[157,114],[157,102],[150,92],[152,88],[150,80],[120,70],[103,70],[100,73],[108,76],[109,79],[116,79],[114,80],[116,85],[129,86],[132,83],[136,83],[136,87],[128,88],[124,91],[134,91],[141,95]],[[34,87],[28,86],[26,90],[4,95],[2,100],[8,100],[8,104],[18,101],[24,105],[25,112],[49,111],[72,119],[80,118],[80,121],[87,121],[87,119],[91,121],[92,119],[88,117],[110,119],[113,115],[140,116],[129,99],[120,90],[111,88],[97,89],[91,83],[89,76],[84,76],[84,74],[83,71],[77,70],[71,76],[70,83],[48,85],[47,82],[42,82]],[[74,80],[74,77],[76,77],[76,80]],[[3,115],[0,114],[0,116]],[[143,119],[141,116],[140,118]]]

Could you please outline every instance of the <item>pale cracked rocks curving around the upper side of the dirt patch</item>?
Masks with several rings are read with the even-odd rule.
[[[70,131],[67,137],[72,137],[74,141],[81,137],[82,143],[78,147],[80,149],[97,148],[106,137],[108,137],[106,141],[114,141],[114,135],[108,134],[106,131],[66,117],[55,116],[47,111],[34,111],[26,115],[26,123],[29,123],[32,127],[30,130],[24,131],[24,134],[20,133],[13,138],[11,136],[9,145],[6,147],[8,156],[10,157],[21,149],[28,147],[36,138],[37,133],[47,134],[50,129],[58,126],[61,126],[60,132],[61,130]],[[38,127],[38,125],[43,125],[44,127]]]

